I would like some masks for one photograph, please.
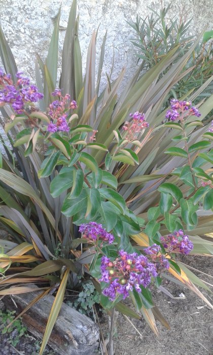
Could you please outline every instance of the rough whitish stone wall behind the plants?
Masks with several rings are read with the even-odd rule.
[[[64,38],[68,14],[72,0],[0,0],[0,19],[17,61],[19,70],[23,70],[34,80],[34,58],[38,52],[43,58],[47,54],[54,19],[61,7],[60,51]],[[164,5],[169,1],[165,0]],[[136,14],[145,17],[150,13],[149,7],[160,9],[160,0],[78,0],[80,13],[79,37],[86,62],[86,51],[93,30],[97,29],[97,53],[105,30],[108,30],[107,47],[103,72],[110,73],[115,53],[114,75],[123,66],[126,67],[126,80],[135,70],[137,58],[129,39],[132,29],[126,21],[135,19]],[[170,16],[179,13],[179,7],[189,9],[193,17],[192,34],[198,33],[213,22],[212,0],[181,0],[172,2]],[[59,64],[60,66],[60,64]]]

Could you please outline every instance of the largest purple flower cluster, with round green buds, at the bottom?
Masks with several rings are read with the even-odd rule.
[[[109,287],[103,289],[102,294],[114,301],[117,296],[122,295],[123,299],[129,296],[129,291],[141,292],[140,286],[147,288],[152,277],[157,277],[159,272],[169,268],[169,263],[163,255],[157,256],[160,248],[153,244],[146,248],[147,255],[137,253],[127,254],[123,250],[114,261],[103,256],[101,258],[101,278],[99,281],[110,283]],[[162,258],[161,258],[162,257]]]

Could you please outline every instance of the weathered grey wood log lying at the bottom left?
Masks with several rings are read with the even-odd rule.
[[[13,295],[18,311],[22,311],[39,292]],[[45,296],[22,316],[27,330],[38,338],[42,339],[44,335],[54,299],[53,296]],[[14,309],[9,297],[6,306]],[[98,326],[86,315],[63,303],[48,344],[60,355],[94,355],[98,349],[98,338]]]

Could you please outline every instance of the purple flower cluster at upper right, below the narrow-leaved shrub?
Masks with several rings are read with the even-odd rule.
[[[171,121],[182,120],[187,116],[201,116],[200,112],[192,106],[191,101],[179,101],[173,98],[170,100],[170,105],[171,110],[166,112],[165,117]]]

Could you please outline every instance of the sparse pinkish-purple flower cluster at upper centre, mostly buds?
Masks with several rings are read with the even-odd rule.
[[[136,133],[143,131],[145,128],[149,127],[149,123],[146,122],[144,114],[136,111],[134,114],[129,115],[132,118],[131,122],[125,122],[123,129],[127,131],[126,139],[129,141],[136,138]]]

